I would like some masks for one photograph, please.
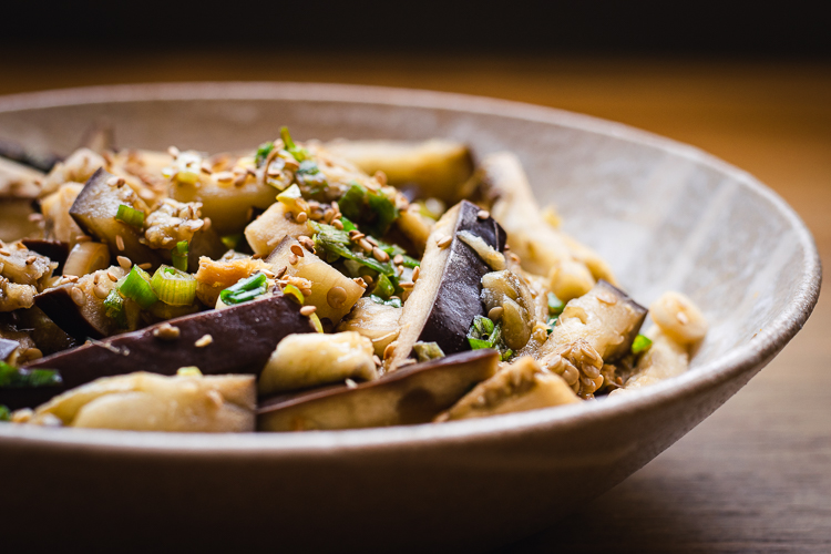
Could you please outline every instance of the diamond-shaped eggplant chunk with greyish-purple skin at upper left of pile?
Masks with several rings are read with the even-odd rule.
[[[162,258],[158,253],[140,242],[142,233],[115,218],[121,204],[131,207],[136,203],[144,204],[132,188],[126,185],[117,186],[116,181],[117,177],[103,167],[96,171],[75,198],[70,215],[84,233],[106,243],[113,256],[125,256],[134,264],[150,263],[153,268],[158,267]]]

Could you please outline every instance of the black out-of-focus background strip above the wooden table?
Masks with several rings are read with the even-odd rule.
[[[821,2],[814,2],[819,6]],[[6,2],[0,47],[831,58],[809,2]]]

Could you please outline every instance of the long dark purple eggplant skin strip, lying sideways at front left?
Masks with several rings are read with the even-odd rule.
[[[177,338],[165,340],[154,336],[165,324],[178,329]],[[295,332],[316,331],[309,318],[300,314],[296,301],[275,295],[91,341],[25,367],[59,370],[64,389],[133,371],[172,376],[188,366],[196,366],[204,375],[259,375],[277,343]],[[206,335],[213,340],[197,347],[195,342]]]

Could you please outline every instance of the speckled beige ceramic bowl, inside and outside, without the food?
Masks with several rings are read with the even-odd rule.
[[[299,83],[0,99],[0,137],[58,152],[102,119],[119,144],[148,148],[250,147],[287,124],[300,140],[443,136],[480,155],[512,150],[540,201],[560,206],[566,230],[604,255],[635,299],[683,290],[710,332],[687,373],[655,387],[441,425],[174,435],[3,424],[7,541],[491,548],[673,444],[784,347],[819,296],[813,239],[781,198],[696,148],[616,123],[472,96]]]

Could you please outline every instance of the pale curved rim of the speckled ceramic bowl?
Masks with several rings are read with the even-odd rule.
[[[748,172],[706,152],[671,138],[591,115],[555,107],[468,94],[387,86],[300,82],[182,82],[120,84],[0,96],[0,113],[49,107],[126,102],[287,100],[349,102],[399,107],[421,107],[472,114],[507,116],[551,123],[663,150],[732,177],[766,199],[789,223],[804,258],[799,286],[786,308],[747,343],[681,376],[646,390],[585,402],[492,418],[462,420],[441,425],[419,424],[376,429],[312,431],[305,433],[201,434],[124,432],[112,430],[50,429],[0,425],[0,445],[25,443],[50,449],[84,449],[91,452],[121,451],[146,455],[294,456],[331,454],[334,450],[389,450],[401,445],[424,448],[448,442],[497,440],[505,434],[555,429],[616,418],[625,412],[644,412],[680,397],[701,393],[725,381],[751,372],[773,358],[802,328],[820,294],[822,268],[811,233],[802,219],[777,193]]]

